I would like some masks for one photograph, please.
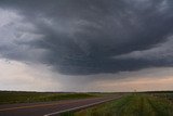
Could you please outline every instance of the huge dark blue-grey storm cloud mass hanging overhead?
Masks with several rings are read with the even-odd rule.
[[[41,39],[17,43],[48,50],[39,62],[63,74],[117,73],[173,64],[172,57],[114,59],[168,41],[173,33],[171,0],[1,0],[0,7],[16,10],[25,16],[24,22],[36,26],[32,33],[43,35]]]

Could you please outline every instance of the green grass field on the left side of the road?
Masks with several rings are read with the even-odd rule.
[[[0,104],[48,102],[99,96],[98,93],[56,93],[0,91]]]

